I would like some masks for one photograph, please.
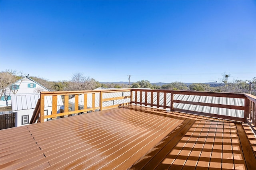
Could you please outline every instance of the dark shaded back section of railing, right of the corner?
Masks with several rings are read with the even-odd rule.
[[[178,99],[175,98],[175,95],[188,95],[193,96],[194,98],[198,98],[199,96],[205,96],[205,97],[216,97],[217,100],[221,100],[220,98],[238,98],[238,99],[244,99],[244,94],[238,94],[238,93],[217,93],[217,92],[197,92],[197,91],[178,91],[178,90],[144,90],[144,89],[132,89],[135,91],[135,100],[132,101],[134,104],[140,104],[144,106],[155,106],[155,107],[161,107],[163,109],[169,108],[170,111],[179,111],[184,113],[192,113],[192,114],[198,114],[198,115],[206,115],[210,117],[217,117],[222,119],[230,119],[235,121],[244,121],[244,117],[234,117],[234,116],[228,116],[225,113],[206,113],[206,112],[200,112],[196,110],[189,110],[189,109],[181,109],[174,107],[174,104],[188,104],[188,105],[194,105],[194,106],[208,106],[208,107],[216,107],[216,108],[224,108],[224,109],[234,109],[234,110],[241,110],[244,111],[244,106],[238,106],[238,105],[231,105],[231,104],[218,104],[218,103],[206,103],[206,102],[194,102],[188,100],[184,100],[182,98]],[[143,96],[143,98],[142,98]],[[153,97],[152,97],[153,96]],[[162,100],[162,101],[161,101]]]

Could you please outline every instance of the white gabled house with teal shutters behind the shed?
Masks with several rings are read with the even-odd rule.
[[[47,88],[40,85],[38,82],[28,76],[14,82],[9,87],[6,87],[5,94],[0,98],[0,107],[11,106],[12,95],[14,94],[30,94],[39,92],[50,92]],[[7,98],[7,100],[6,100]]]

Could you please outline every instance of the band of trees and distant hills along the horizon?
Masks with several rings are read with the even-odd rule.
[[[0,72],[0,91],[3,91],[8,85],[14,83],[20,78],[27,76],[22,72],[6,70]],[[148,80],[140,80],[131,84],[130,88],[150,88],[150,89],[165,89],[165,90],[196,90],[200,92],[233,92],[233,93],[250,93],[256,95],[256,77],[252,80],[234,80],[228,82],[230,74],[224,74],[220,86],[210,86],[210,84],[193,83],[186,85],[182,82],[171,82],[162,86],[151,84]],[[52,82],[45,78],[30,76],[33,80],[42,86],[54,91],[75,91],[75,90],[94,90],[99,87],[103,88],[128,88],[128,84],[100,83],[94,78],[86,77],[83,73],[72,75],[72,79],[68,81]],[[249,83],[251,82],[251,83]],[[251,88],[250,88],[251,86]]]

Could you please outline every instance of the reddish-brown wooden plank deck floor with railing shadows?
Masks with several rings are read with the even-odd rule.
[[[256,170],[246,124],[124,106],[0,131],[0,169]]]

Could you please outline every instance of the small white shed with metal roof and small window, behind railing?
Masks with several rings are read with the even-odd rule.
[[[40,98],[39,93],[12,95],[12,113],[15,113],[15,127],[27,125],[33,115],[36,103]],[[63,106],[61,96],[57,97],[57,113]],[[44,97],[44,115],[52,113],[52,96]],[[47,121],[45,119],[45,121]]]

